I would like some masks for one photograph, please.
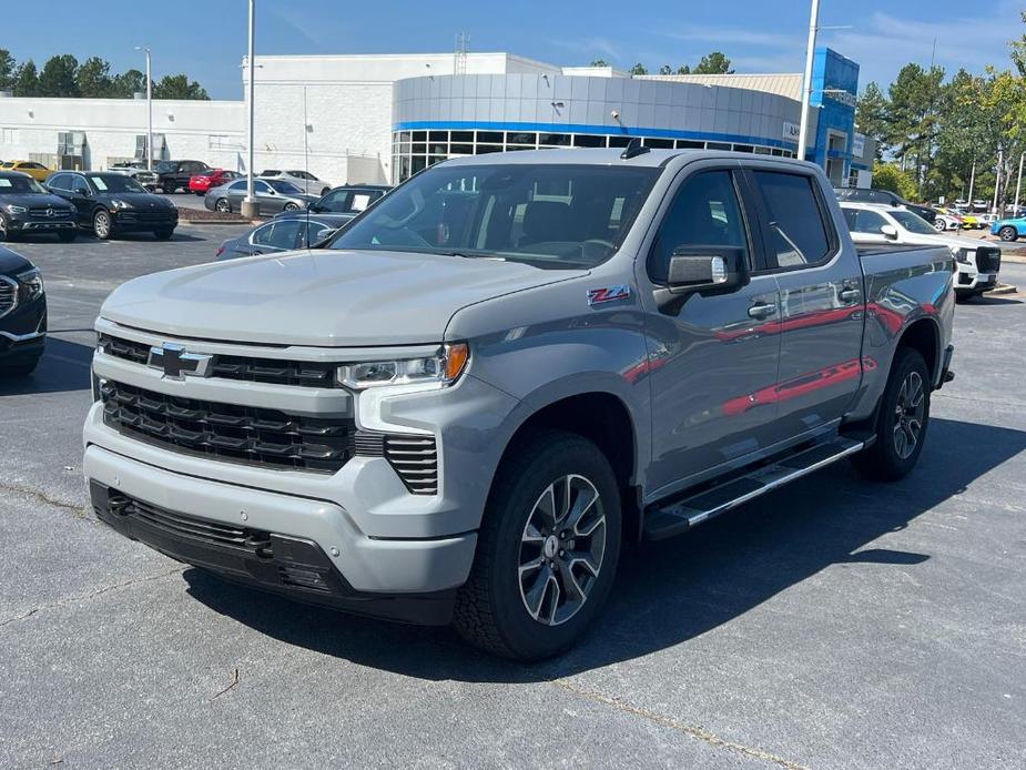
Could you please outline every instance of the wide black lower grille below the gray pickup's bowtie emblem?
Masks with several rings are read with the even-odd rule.
[[[353,454],[355,421],[180,398],[105,381],[103,422],[173,452],[246,465],[335,473]]]

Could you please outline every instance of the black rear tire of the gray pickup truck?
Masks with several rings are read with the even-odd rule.
[[[922,384],[922,409],[913,414],[905,399],[914,401],[912,383],[916,377]],[[852,460],[861,475],[877,482],[897,482],[915,467],[930,427],[931,388],[932,377],[923,355],[912,347],[900,347],[891,366],[887,387],[880,401],[875,427],[876,442],[865,452],[855,455]],[[904,449],[897,436],[903,417],[906,421],[914,418],[920,425],[911,450],[907,446],[908,430],[902,430],[905,435]]]

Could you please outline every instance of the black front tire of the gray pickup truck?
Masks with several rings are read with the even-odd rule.
[[[532,517],[540,510],[542,497],[550,486],[555,488],[557,482],[571,477],[590,484],[589,494],[598,494],[597,501],[580,519],[581,526],[595,527],[592,534],[578,533],[575,536],[575,526],[569,536],[563,537],[568,530],[560,533],[557,524],[544,538],[537,538],[537,546],[527,544],[527,525],[535,520]],[[562,486],[559,488],[563,489]],[[567,489],[566,499],[582,499],[578,495],[585,493]],[[556,499],[553,496],[553,504]],[[603,515],[603,524],[596,525]],[[596,559],[600,528],[601,551]],[[540,531],[546,529],[542,527]],[[456,630],[473,645],[515,660],[539,660],[569,649],[585,634],[609,597],[620,557],[620,540],[619,488],[609,460],[601,450],[572,433],[539,430],[531,434],[518,443],[496,475],[478,533],[470,577],[457,595]],[[550,545],[556,556],[548,560]],[[541,563],[540,567],[532,568],[537,573],[521,569],[525,549],[531,547],[538,548],[538,557],[529,560]],[[576,548],[580,549],[572,550]],[[570,578],[575,586],[587,586],[578,595],[585,598],[579,602],[567,602],[563,611],[569,615],[560,620],[556,606],[562,598],[561,589],[558,594],[549,591],[549,580],[555,580],[559,588],[568,573],[573,575],[572,570],[580,569],[580,560],[571,558],[573,554],[589,555],[592,564],[597,560],[598,575],[593,576],[588,570],[588,575],[578,573]],[[557,561],[558,569],[553,570]],[[531,575],[535,576],[534,581]],[[539,581],[544,584],[537,606],[539,616],[542,611],[549,615],[547,620],[536,618],[528,610],[527,594],[531,591],[525,588],[525,580],[535,587]]]

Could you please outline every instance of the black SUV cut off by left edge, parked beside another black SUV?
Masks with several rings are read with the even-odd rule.
[[[51,195],[28,174],[0,171],[0,240],[54,233],[61,241],[74,241],[75,213],[73,205]]]

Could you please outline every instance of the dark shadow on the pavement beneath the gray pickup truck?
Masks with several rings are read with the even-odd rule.
[[[530,666],[478,654],[448,629],[339,615],[199,569],[184,577],[189,592],[214,611],[287,645],[428,680],[546,681],[685,644],[831,567],[914,568],[930,555],[865,546],[1024,449],[1026,432],[934,418],[920,465],[904,482],[874,485],[839,464],[690,535],[627,549],[592,632],[561,658]]]

